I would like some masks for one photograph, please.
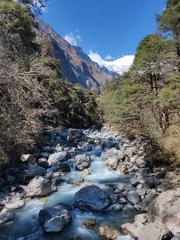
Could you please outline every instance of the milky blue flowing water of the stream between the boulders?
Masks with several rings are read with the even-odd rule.
[[[115,136],[112,136],[110,132],[101,132],[95,130],[84,131],[85,135],[89,138],[106,139],[113,137],[114,141],[121,144],[121,140]],[[92,182],[99,186],[107,194],[112,193],[112,184],[127,182],[128,178],[121,175],[117,171],[110,170],[107,165],[106,151],[100,148],[100,145],[94,144],[89,150],[88,144],[84,143],[81,146],[81,150],[91,157],[91,166],[89,168],[89,175],[84,177],[84,181],[80,184],[74,184],[81,177],[81,172],[76,171],[73,164],[71,172],[64,176],[64,181],[58,187],[58,191],[51,194],[46,198],[32,199],[27,201],[24,208],[15,211],[15,219],[0,228],[0,240],[67,240],[78,239],[72,238],[79,236],[83,240],[98,240],[97,229],[88,230],[83,225],[83,221],[88,218],[95,218],[97,223],[108,222],[115,228],[119,229],[120,225],[126,222],[133,222],[135,214],[137,212],[130,206],[126,207],[122,211],[114,211],[112,207],[107,209],[103,213],[85,212],[78,209],[72,209],[72,222],[63,231],[49,236],[42,236],[41,232],[38,232],[38,213],[47,206],[53,206],[57,203],[70,204],[73,206],[74,194],[85,186],[85,182]],[[89,150],[89,151],[88,151]],[[70,160],[71,161],[71,160]],[[37,232],[35,235],[31,235]],[[25,237],[26,236],[26,237]],[[21,238],[24,237],[24,238]],[[130,240],[130,236],[120,236],[119,240]]]

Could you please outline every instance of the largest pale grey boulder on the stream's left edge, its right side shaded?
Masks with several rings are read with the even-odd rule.
[[[28,184],[29,197],[44,197],[57,190],[52,180],[35,177]]]

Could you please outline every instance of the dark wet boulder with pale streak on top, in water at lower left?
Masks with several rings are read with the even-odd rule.
[[[39,212],[39,224],[47,233],[61,232],[70,221],[70,210],[62,204],[42,209]]]

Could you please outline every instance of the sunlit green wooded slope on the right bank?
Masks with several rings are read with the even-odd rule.
[[[169,0],[157,21],[131,69],[104,88],[101,105],[108,122],[150,136],[180,160],[180,2]]]

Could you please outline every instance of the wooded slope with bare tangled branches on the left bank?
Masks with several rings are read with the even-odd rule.
[[[63,81],[48,39],[37,34],[34,14],[44,1],[20,2],[0,1],[0,163],[49,128],[101,124],[93,94]]]

